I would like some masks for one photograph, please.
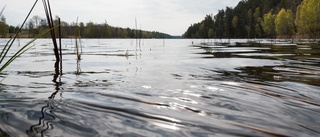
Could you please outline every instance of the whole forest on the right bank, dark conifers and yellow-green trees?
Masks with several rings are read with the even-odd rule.
[[[319,0],[242,0],[192,24],[184,38],[319,38]]]

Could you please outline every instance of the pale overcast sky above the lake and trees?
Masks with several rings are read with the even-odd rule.
[[[53,16],[68,23],[107,22],[111,26],[159,31],[170,35],[182,35],[188,27],[200,22],[207,14],[216,15],[226,6],[235,7],[240,0],[51,0]],[[23,22],[35,0],[0,0],[0,8],[6,6],[3,15],[7,24]],[[31,16],[45,18],[42,1],[39,0]]]

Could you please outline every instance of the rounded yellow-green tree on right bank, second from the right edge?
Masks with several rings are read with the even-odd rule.
[[[275,19],[275,24],[278,35],[292,36],[294,34],[294,19],[291,10],[281,9]]]

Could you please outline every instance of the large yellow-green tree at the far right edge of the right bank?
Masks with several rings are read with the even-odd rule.
[[[317,38],[320,33],[319,0],[304,0],[298,6],[295,23],[300,34],[309,34]]]

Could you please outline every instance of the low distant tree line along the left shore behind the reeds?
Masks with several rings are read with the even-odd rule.
[[[58,17],[54,20],[54,23],[58,24]],[[61,36],[63,38],[72,38],[78,36],[80,31],[80,37],[83,38],[172,38],[171,35],[157,32],[157,31],[145,31],[140,29],[130,29],[110,26],[105,23],[68,23],[61,21]],[[32,38],[48,28],[47,20],[40,16],[33,16],[28,20],[22,32],[22,37]],[[9,37],[10,34],[14,34],[19,30],[19,27],[8,25],[6,23],[5,16],[0,18],[0,36]],[[49,34],[44,37],[50,37]]]

